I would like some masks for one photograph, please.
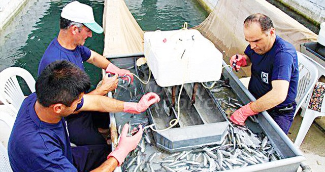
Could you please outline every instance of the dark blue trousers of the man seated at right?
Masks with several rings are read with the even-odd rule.
[[[278,113],[272,113],[269,112],[270,116],[274,119],[274,121],[280,126],[282,131],[287,135],[289,132],[289,129],[291,127],[291,124],[294,121],[294,114],[296,110],[296,105],[293,105],[293,111],[290,113],[285,114],[278,114]]]

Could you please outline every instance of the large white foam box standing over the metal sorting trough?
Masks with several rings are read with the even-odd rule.
[[[219,80],[222,54],[198,30],[145,32],[144,54],[160,87]]]

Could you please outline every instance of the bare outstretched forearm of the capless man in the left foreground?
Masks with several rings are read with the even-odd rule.
[[[124,102],[99,95],[84,95],[83,105],[78,111],[122,112]],[[77,111],[77,112],[78,112]]]

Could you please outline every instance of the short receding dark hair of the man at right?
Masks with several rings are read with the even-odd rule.
[[[270,17],[261,13],[256,13],[248,16],[244,21],[244,26],[247,27],[253,22],[258,23],[259,26],[261,26],[262,31],[268,31],[274,27]]]

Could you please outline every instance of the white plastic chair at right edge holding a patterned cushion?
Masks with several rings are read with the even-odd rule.
[[[319,75],[317,77],[317,79],[318,79],[321,75],[325,75],[325,68],[316,62],[315,62],[315,64],[317,66],[315,69],[318,69],[318,72],[319,72]],[[312,88],[314,89],[314,87],[312,87]],[[325,93],[323,93],[323,94],[325,94]],[[325,116],[325,100],[322,101],[320,112],[308,108],[308,105],[309,105],[309,102],[311,99],[311,95],[312,95],[312,93],[309,94],[309,96],[307,98],[306,109],[304,111],[302,111],[301,116],[304,116],[304,118],[303,118],[303,121],[301,122],[300,129],[299,129],[297,138],[295,140],[295,145],[298,147],[300,147],[300,145],[302,144],[314,119],[318,116]]]

